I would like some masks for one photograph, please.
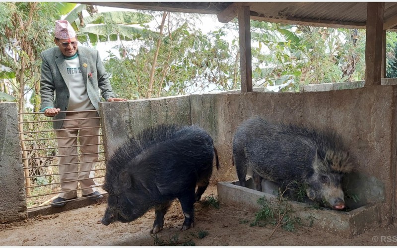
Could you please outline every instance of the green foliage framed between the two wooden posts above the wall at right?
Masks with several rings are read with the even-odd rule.
[[[253,80],[281,91],[299,84],[363,80],[365,33],[251,21]]]

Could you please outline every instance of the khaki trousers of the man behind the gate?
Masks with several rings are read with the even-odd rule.
[[[84,120],[83,118],[94,118],[98,117],[96,111],[92,112],[72,112],[67,113],[65,117],[64,124],[61,129],[67,128],[82,128],[82,127],[95,127],[99,126],[99,119],[88,119]],[[80,119],[80,120],[68,120],[68,119]],[[83,120],[81,120],[83,119]],[[95,182],[92,179],[94,177],[95,171],[92,171],[95,168],[95,164],[98,161],[98,152],[99,152],[99,128],[86,128],[86,129],[74,129],[74,130],[60,130],[55,131],[58,139],[58,147],[64,146],[76,146],[77,139],[80,142],[80,170],[78,170],[78,156],[77,147],[66,147],[59,148],[58,153],[61,155],[59,157],[59,177],[61,181],[61,192],[59,194],[60,197],[65,199],[70,199],[77,196],[76,189],[78,188],[78,182],[80,182],[81,194],[87,195],[96,191]],[[85,135],[96,135],[89,137],[76,137],[85,136]],[[60,138],[62,137],[62,138]],[[92,145],[89,145],[92,144]],[[84,146],[88,145],[88,146]],[[87,154],[94,153],[94,154]],[[65,156],[62,155],[74,155],[74,156]],[[88,162],[88,163],[85,163]],[[74,164],[69,164],[74,163]],[[67,165],[63,165],[67,164]],[[87,172],[83,172],[87,171]],[[70,173],[68,173],[70,172]],[[65,173],[65,174],[63,174]],[[73,181],[74,182],[66,182]],[[65,183],[64,183],[65,182]]]

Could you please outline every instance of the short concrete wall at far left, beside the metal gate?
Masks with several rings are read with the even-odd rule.
[[[0,103],[0,223],[27,217],[16,103]]]

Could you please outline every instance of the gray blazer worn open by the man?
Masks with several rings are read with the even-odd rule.
[[[101,89],[101,95],[105,101],[115,97],[109,75],[105,71],[98,51],[79,46],[77,52],[88,98],[94,108],[99,109],[99,89]],[[69,105],[69,89],[65,83],[68,79],[64,55],[58,47],[53,47],[41,53],[41,60],[40,109],[54,107],[66,111]],[[91,78],[88,77],[90,72],[92,73]],[[65,116],[66,113],[60,113],[54,117],[54,120],[65,119]],[[63,123],[64,121],[53,122],[54,129],[61,129]]]

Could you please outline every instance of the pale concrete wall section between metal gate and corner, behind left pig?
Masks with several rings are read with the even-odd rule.
[[[163,97],[128,102],[102,102],[105,156],[128,138],[155,124],[191,124],[190,96]]]

